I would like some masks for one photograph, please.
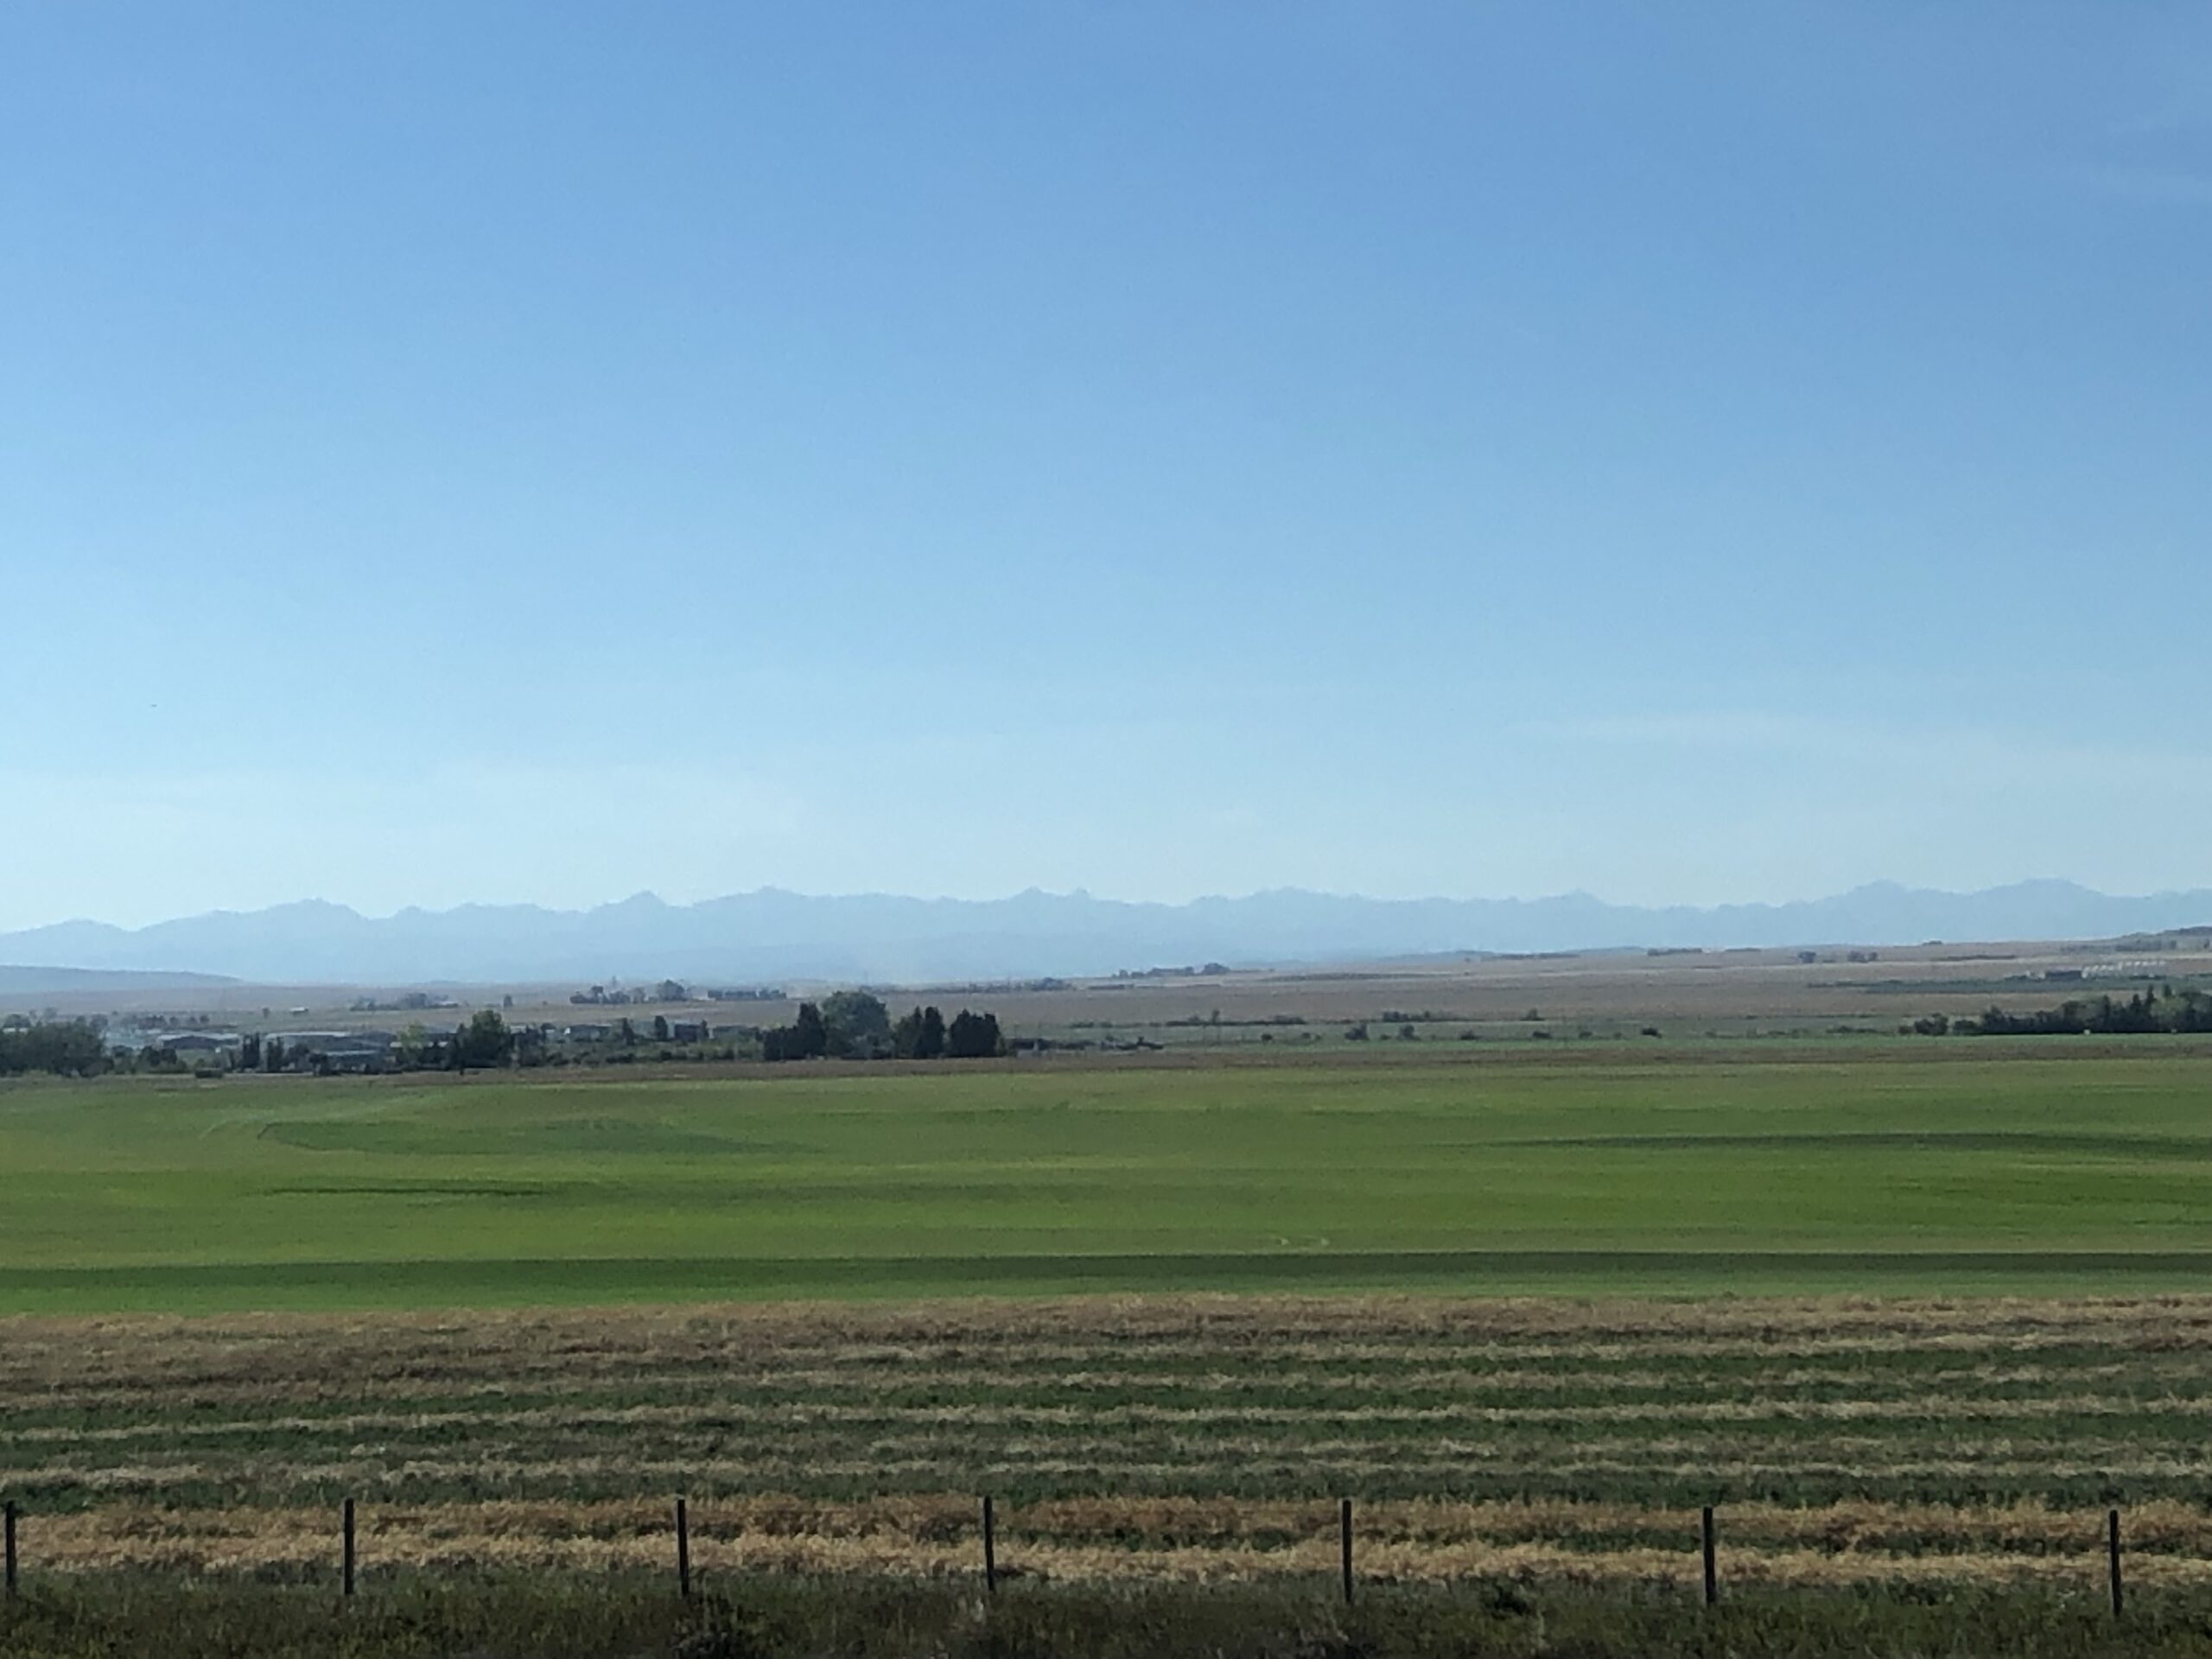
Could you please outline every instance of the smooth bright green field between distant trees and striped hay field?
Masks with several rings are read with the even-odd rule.
[[[2212,1051],[0,1088],[0,1312],[2212,1283]]]

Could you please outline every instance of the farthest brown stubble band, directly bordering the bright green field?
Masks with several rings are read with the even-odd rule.
[[[307,1358],[365,1365],[392,1376],[420,1365],[520,1360],[542,1374],[595,1367],[712,1365],[732,1356],[812,1354],[852,1365],[940,1363],[967,1343],[1018,1347],[1042,1363],[1071,1363],[1102,1343],[1144,1343],[1166,1356],[1230,1354],[1250,1345],[1298,1360],[1398,1363],[1438,1345],[1480,1356],[1601,1360],[1619,1354],[1747,1358],[1805,1354],[1931,1352],[1944,1345],[2026,1349],[2037,1343],[2146,1343],[2212,1349],[2212,1298],[1964,1301],[1964,1303],[1422,1303],[1413,1298],[1157,1298],[931,1310],[741,1307],[593,1310],[376,1316],[223,1316],[177,1321],[11,1318],[0,1380],[84,1380],[106,1371],[173,1380],[195,1369],[234,1371],[241,1360]],[[303,1340],[305,1338],[305,1340]],[[1387,1340],[1376,1340],[1387,1338]],[[1055,1347],[1057,1343],[1057,1347]]]

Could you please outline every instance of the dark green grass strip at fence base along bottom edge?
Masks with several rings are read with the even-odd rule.
[[[681,1604],[644,1582],[420,1586],[338,1606],[265,1584],[126,1584],[0,1608],[11,1659],[1668,1659],[1765,1655],[2212,1652],[2212,1601],[2146,1597],[2124,1621],[2039,1593],[1688,1597],[1383,1588],[1352,1608],[1310,1590],[748,1582]]]

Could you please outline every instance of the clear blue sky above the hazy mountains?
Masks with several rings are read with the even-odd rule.
[[[0,0],[0,927],[2212,885],[2197,7]]]

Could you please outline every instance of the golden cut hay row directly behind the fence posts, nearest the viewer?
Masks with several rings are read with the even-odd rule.
[[[2095,1513],[1745,1506],[1725,1515],[1723,1575],[1745,1584],[1893,1582],[2095,1584]],[[2143,1584],[2212,1582],[2212,1526],[2183,1506],[2130,1517],[2132,1573]],[[1690,1586],[1699,1571],[1694,1511],[1378,1504],[1360,1511],[1358,1566],[1369,1579],[1475,1577],[1648,1582]],[[40,1571],[175,1573],[327,1571],[327,1509],[100,1509],[42,1517],[29,1537]],[[1325,1504],[1190,1511],[1086,1502],[1002,1511],[1000,1564],[1046,1579],[1325,1577],[1336,1568]],[[365,1509],[369,1571],[666,1568],[670,1515],[659,1504],[445,1504]],[[799,1500],[692,1506],[697,1571],[973,1575],[971,1500],[821,1506]]]

